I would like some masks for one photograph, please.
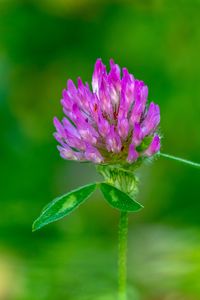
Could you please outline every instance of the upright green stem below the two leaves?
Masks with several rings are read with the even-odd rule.
[[[128,237],[128,212],[121,211],[119,221],[119,300],[127,300],[127,237]]]

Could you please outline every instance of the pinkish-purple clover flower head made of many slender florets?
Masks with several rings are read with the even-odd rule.
[[[54,118],[60,155],[96,164],[135,163],[160,150],[159,106],[147,105],[148,88],[110,60],[106,71],[97,59],[92,90],[78,78],[68,80],[61,104],[65,117]]]

